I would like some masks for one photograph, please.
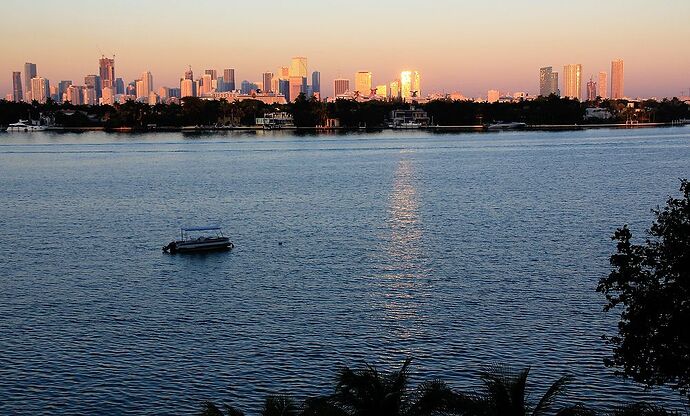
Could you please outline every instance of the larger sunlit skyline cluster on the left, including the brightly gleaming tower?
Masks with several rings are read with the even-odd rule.
[[[195,78],[190,66],[184,71],[178,86],[157,89],[150,71],[142,72],[139,78],[128,83],[115,74],[115,57],[101,56],[98,60],[98,73],[86,75],[83,83],[63,80],[51,86],[47,78],[38,75],[36,64],[27,62],[23,73],[12,73],[12,93],[6,99],[45,103],[50,98],[55,102],[69,101],[75,105],[114,104],[128,100],[155,105],[179,102],[184,97],[228,101],[255,99],[266,104],[285,104],[294,101],[300,94],[307,98],[322,99],[321,73],[310,73],[307,58],[301,56],[292,58],[288,66],[279,67],[275,73],[267,71],[260,75],[259,80],[243,80],[239,85],[235,82],[234,68],[225,68],[222,72],[206,69]],[[378,85],[374,85],[372,80],[372,73],[369,71],[358,71],[354,76],[353,87],[350,79],[336,78],[333,81],[333,97],[327,99],[410,101],[421,97],[419,71],[402,71],[398,78]]]

